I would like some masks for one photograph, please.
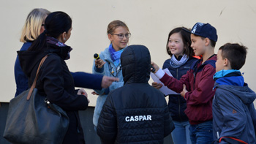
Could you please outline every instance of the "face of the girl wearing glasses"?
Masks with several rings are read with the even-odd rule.
[[[118,51],[121,50],[122,48],[126,48],[127,44],[129,42],[129,37],[123,37],[122,39],[118,37],[116,34],[128,34],[129,31],[125,29],[123,26],[118,26],[113,34],[109,34],[108,39],[112,42],[113,48]]]

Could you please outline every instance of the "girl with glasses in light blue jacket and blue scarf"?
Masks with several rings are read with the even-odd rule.
[[[109,77],[118,77],[118,82],[113,82],[109,88],[102,88],[101,90],[94,90],[93,94],[99,94],[94,110],[93,123],[97,127],[99,114],[102,106],[110,91],[124,86],[123,75],[121,72],[120,56],[127,48],[129,37],[129,29],[127,25],[120,20],[113,20],[108,24],[108,39],[110,45],[99,54],[98,60],[94,61],[92,72],[99,75],[107,75]]]

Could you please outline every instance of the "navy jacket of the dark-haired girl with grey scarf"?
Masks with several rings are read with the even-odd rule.
[[[165,61],[162,69],[169,69],[173,77],[179,80],[182,75],[185,75],[187,73],[187,71],[190,69],[191,65],[195,61],[197,61],[197,58],[189,58],[189,60],[181,67],[173,68],[170,65],[169,58]],[[169,95],[168,107],[174,121],[189,121],[189,118],[187,118],[187,115],[184,113],[184,110],[186,110],[187,108],[187,101],[181,96],[181,94]]]

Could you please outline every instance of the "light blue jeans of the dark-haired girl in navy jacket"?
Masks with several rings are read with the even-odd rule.
[[[175,129],[172,132],[174,144],[191,144],[189,137],[189,121],[173,121]]]

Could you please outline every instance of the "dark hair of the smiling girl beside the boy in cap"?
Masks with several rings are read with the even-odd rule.
[[[190,47],[190,45],[191,45],[190,30],[185,28],[185,27],[178,27],[178,28],[173,29],[172,31],[170,31],[170,33],[168,35],[168,39],[167,39],[167,44],[166,44],[166,51],[167,51],[168,55],[173,56],[173,54],[170,53],[170,50],[168,48],[168,42],[169,42],[170,36],[172,34],[176,34],[176,33],[181,34],[181,39],[182,39],[183,44],[184,44],[183,54],[186,54],[187,56],[189,56],[189,58],[192,58],[192,56],[195,56],[195,53],[194,53],[193,49]]]

